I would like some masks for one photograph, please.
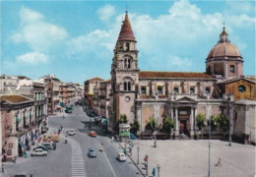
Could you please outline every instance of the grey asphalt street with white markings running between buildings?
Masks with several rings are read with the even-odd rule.
[[[117,143],[111,143],[108,135],[103,135],[101,128],[93,123],[92,128],[98,136],[88,136],[90,117],[81,106],[74,106],[73,113],[49,117],[50,134],[60,126],[63,127],[61,141],[57,149],[49,151],[48,156],[22,158],[20,162],[7,163],[8,174],[33,174],[33,177],[135,177],[142,176],[137,167],[128,158],[125,162],[116,159],[118,151],[122,151]],[[78,129],[75,136],[68,138],[64,144],[65,132],[71,128]],[[99,148],[103,144],[104,151],[97,151],[96,158],[88,156],[89,148]]]

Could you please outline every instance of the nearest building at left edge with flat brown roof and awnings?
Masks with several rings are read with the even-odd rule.
[[[36,137],[33,100],[20,94],[1,95],[2,150],[7,160],[23,156]]]

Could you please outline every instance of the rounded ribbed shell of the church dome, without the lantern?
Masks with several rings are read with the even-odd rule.
[[[220,42],[209,52],[207,58],[215,57],[241,57],[239,50],[229,42]]]

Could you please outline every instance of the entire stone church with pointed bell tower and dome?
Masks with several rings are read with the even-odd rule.
[[[225,29],[208,54],[206,71],[201,73],[140,71],[136,43],[126,12],[113,50],[110,130],[118,126],[122,114],[129,123],[138,120],[140,131],[145,131],[150,117],[155,118],[160,129],[163,117],[168,116],[174,122],[176,136],[193,137],[199,113],[206,118],[224,113],[233,121],[237,115],[233,112],[235,100],[255,100],[255,81],[243,77],[243,58]]]

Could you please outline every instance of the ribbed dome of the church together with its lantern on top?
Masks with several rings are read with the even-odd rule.
[[[212,50],[209,52],[207,58],[215,57],[241,57],[239,50],[230,43],[228,40],[228,34],[225,30],[220,35],[220,41],[216,44]]]

